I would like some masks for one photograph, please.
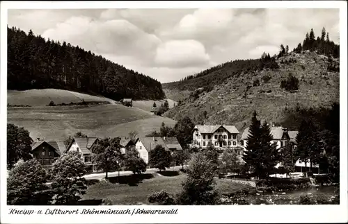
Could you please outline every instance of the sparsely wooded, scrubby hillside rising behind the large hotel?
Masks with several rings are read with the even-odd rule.
[[[190,91],[177,107],[165,115],[173,119],[189,116],[195,123],[233,124],[242,131],[249,125],[253,110],[258,112],[261,119],[276,123],[284,119],[287,108],[297,105],[329,107],[331,103],[339,101],[340,74],[328,69],[331,64],[338,64],[339,67],[339,58],[303,51],[281,56],[276,63],[279,69],[242,72],[226,78],[211,91],[205,91],[204,86]],[[298,92],[280,89],[281,80],[285,80],[289,74],[299,78]],[[267,80],[264,76],[271,79]],[[260,85],[253,86],[255,80],[259,80]],[[180,92],[175,88],[169,89],[168,85],[165,92],[172,95],[175,91]]]

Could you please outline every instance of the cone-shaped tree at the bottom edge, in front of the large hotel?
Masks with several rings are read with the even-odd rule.
[[[219,192],[212,175],[211,162],[203,153],[193,155],[187,169],[187,179],[182,183],[182,192],[177,196],[179,205],[215,205]]]

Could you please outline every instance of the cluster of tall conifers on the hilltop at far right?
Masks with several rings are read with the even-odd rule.
[[[306,33],[303,44],[299,43],[294,52],[301,53],[301,51],[306,50],[317,51],[319,54],[332,56],[333,58],[340,57],[340,45],[330,40],[329,33],[326,33],[325,27],[322,28],[322,35],[317,38],[315,38],[313,29],[310,30],[310,33]]]

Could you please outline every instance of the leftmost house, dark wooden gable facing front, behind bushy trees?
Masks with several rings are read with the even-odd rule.
[[[61,141],[42,141],[37,139],[31,145],[31,153],[35,160],[38,160],[45,171],[50,171],[58,157],[65,151],[65,146]]]

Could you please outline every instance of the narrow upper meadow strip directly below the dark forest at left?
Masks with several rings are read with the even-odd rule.
[[[33,107],[40,107],[48,105],[51,101],[56,104],[77,103],[81,102],[82,99],[84,101],[109,101],[111,103],[116,103],[104,96],[92,96],[63,89],[8,90],[7,92],[7,103],[10,105],[31,105]]]

